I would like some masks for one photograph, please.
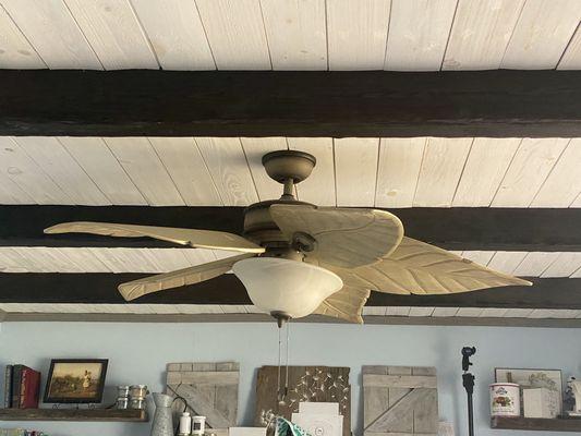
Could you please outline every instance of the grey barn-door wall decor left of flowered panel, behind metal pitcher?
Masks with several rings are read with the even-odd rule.
[[[240,378],[237,362],[168,363],[167,372],[167,393],[184,398],[192,414],[206,416],[206,426],[237,425]]]

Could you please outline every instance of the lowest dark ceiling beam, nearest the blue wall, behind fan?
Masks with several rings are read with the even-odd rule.
[[[117,286],[143,274],[0,274],[0,303],[122,304]],[[531,278],[532,287],[507,287],[450,295],[372,292],[371,306],[525,307],[581,310],[581,279]],[[252,304],[234,275],[148,294],[145,304]]]

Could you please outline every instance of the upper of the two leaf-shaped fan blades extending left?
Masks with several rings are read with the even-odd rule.
[[[118,225],[111,222],[63,222],[45,229],[45,233],[92,233],[118,238],[154,238],[196,249],[229,250],[242,253],[264,253],[264,249],[238,234],[173,227]]]

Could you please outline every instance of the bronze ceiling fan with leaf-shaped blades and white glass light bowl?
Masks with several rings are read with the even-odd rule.
[[[283,184],[279,199],[244,213],[243,237],[211,230],[64,222],[45,233],[148,237],[181,245],[240,252],[204,265],[119,286],[128,301],[211,279],[232,270],[253,303],[280,323],[312,313],[362,323],[371,291],[446,294],[531,282],[507,276],[427,243],[403,237],[395,215],[367,208],[317,207],[296,201],[294,185],[316,165],[303,152],[263,156],[268,175]]]

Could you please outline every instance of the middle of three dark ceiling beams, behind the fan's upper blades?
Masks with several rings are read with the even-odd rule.
[[[406,234],[447,250],[581,251],[581,209],[390,209]],[[169,247],[145,238],[44,234],[65,221],[102,221],[242,232],[243,207],[0,206],[0,246]]]

